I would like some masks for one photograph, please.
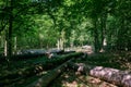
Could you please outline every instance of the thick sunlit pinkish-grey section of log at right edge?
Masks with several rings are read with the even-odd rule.
[[[90,75],[102,78],[117,86],[131,87],[131,74],[127,71],[95,66],[90,71]]]

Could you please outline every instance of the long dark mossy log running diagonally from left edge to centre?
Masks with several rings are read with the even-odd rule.
[[[55,69],[56,66],[62,64],[63,62],[70,60],[71,58],[79,58],[82,54],[83,53],[81,52],[64,54],[59,58],[45,61],[44,63],[36,64],[35,66],[27,67],[23,71],[17,71],[14,73],[7,74],[4,76],[0,76],[0,85],[11,84],[19,80],[22,77],[29,77],[43,71]]]

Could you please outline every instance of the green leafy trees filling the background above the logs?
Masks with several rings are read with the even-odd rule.
[[[1,0],[1,51],[94,45],[131,49],[130,0]],[[7,50],[5,50],[7,49]]]

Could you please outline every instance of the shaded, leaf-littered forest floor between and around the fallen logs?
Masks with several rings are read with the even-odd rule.
[[[11,69],[7,70],[5,64],[0,64],[0,77],[7,73],[13,73],[20,70],[24,70],[28,66],[35,66],[37,63],[43,63],[47,58],[29,59],[23,61],[12,62]],[[84,60],[78,59],[75,63],[84,63],[85,65],[96,65],[105,67],[114,67],[118,70],[131,71],[131,52],[105,52],[88,54]],[[48,72],[48,71],[46,71]],[[32,83],[39,78],[41,75],[35,75],[28,78],[15,82],[15,84],[4,87],[24,87],[28,83]],[[103,82],[98,78],[80,75],[73,70],[68,70],[59,75],[49,87],[117,87],[109,83]]]

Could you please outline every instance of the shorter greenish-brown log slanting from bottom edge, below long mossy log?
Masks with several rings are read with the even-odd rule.
[[[50,84],[50,82],[52,82],[59,74],[61,74],[62,72],[66,71],[68,62],[70,62],[71,60],[67,61],[62,65],[60,65],[57,69],[52,70],[47,75],[40,77],[39,79],[35,80],[33,84],[31,84],[31,85],[28,85],[26,87],[47,87]]]

